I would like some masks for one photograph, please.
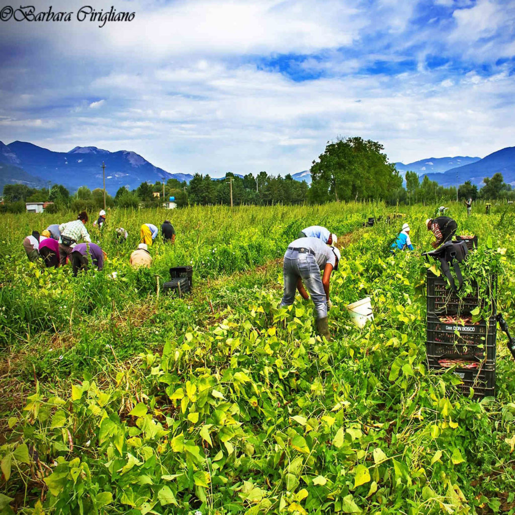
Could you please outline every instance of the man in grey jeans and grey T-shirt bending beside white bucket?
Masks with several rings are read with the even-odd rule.
[[[340,251],[328,247],[319,238],[298,238],[288,245],[284,254],[284,294],[280,306],[293,304],[296,289],[303,299],[310,298],[307,288],[315,304],[318,332],[328,340],[327,311],[332,305],[329,300],[329,283],[331,272],[338,269],[339,260]],[[320,270],[323,270],[322,279]]]

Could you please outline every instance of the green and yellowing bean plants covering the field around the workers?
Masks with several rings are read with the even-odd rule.
[[[33,224],[59,215],[5,216],[0,513],[515,513],[506,338],[495,398],[462,396],[452,370],[427,369],[431,234],[416,227],[434,207],[403,209],[374,227],[362,221],[394,209],[178,210],[175,246],[157,241],[138,271],[127,259],[139,226],[165,214],[113,211],[94,236],[105,269],[77,278],[23,255]],[[515,320],[515,226],[454,210],[458,232],[479,236],[465,289],[486,292],[495,274],[497,309]],[[403,221],[415,252],[385,252]],[[341,246],[329,342],[311,300],[279,307],[278,258],[315,223]],[[127,244],[114,243],[118,226]],[[193,294],[164,296],[167,269],[188,263]],[[366,296],[374,320],[358,329],[345,306]]]

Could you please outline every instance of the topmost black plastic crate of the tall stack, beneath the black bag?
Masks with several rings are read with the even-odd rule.
[[[452,269],[451,269],[452,270]],[[463,314],[469,315],[472,310],[479,306],[483,309],[487,304],[487,299],[478,298],[477,283],[471,282],[473,293],[459,298],[451,289],[447,279],[444,276],[435,276],[435,274],[427,270],[427,313],[444,313],[450,315]],[[489,292],[491,315],[496,313],[496,278],[491,281]]]

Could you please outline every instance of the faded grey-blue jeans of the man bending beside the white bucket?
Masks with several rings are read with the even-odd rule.
[[[327,317],[327,297],[320,278],[320,268],[313,254],[288,249],[283,263],[284,294],[280,306],[289,306],[295,300],[297,281],[302,279],[315,303],[318,318]]]

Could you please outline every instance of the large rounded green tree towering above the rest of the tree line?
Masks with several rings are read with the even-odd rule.
[[[382,152],[383,145],[363,138],[338,139],[329,143],[311,167],[311,199],[386,199],[402,185],[393,163]]]

